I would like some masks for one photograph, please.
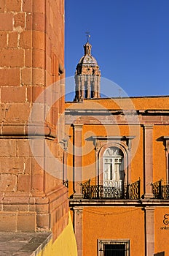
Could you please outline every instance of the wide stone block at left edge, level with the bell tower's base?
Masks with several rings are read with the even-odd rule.
[[[9,86],[1,88],[1,102],[25,102],[25,87]]]

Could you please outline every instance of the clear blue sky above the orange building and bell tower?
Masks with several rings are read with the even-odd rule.
[[[129,96],[169,95],[168,0],[66,0],[66,77],[87,29],[103,78]]]

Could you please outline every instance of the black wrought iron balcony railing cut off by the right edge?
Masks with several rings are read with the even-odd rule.
[[[169,199],[169,184],[165,181],[157,181],[152,184],[152,192],[156,199]]]

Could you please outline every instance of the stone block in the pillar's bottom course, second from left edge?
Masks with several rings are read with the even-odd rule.
[[[36,231],[36,213],[18,213],[17,214],[17,231],[35,232]]]

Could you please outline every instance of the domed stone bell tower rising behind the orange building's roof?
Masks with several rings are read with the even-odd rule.
[[[87,39],[87,43],[84,45],[84,56],[76,66],[74,100],[77,102],[83,101],[83,99],[100,98],[101,71],[91,54],[91,48],[92,45]]]

